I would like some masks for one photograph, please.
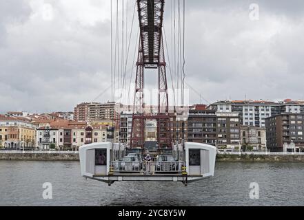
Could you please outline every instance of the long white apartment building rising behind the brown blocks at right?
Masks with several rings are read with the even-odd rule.
[[[304,104],[300,101],[284,100],[270,102],[263,100],[219,101],[208,109],[217,112],[239,113],[243,126],[265,127],[265,119],[281,113],[304,113]]]

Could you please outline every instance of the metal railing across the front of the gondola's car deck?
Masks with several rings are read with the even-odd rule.
[[[145,175],[155,173],[181,173],[184,162],[111,162],[116,173],[142,173]]]

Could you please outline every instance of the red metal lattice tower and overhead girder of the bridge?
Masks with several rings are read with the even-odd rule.
[[[159,148],[172,147],[170,115],[168,113],[168,84],[165,72],[163,48],[163,8],[164,0],[137,0],[139,12],[139,54],[136,69],[134,113],[132,120],[131,147],[144,148],[145,121],[156,120]],[[145,113],[143,102],[144,69],[158,69],[159,106],[157,113]]]

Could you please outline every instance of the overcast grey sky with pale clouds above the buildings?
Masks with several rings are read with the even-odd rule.
[[[190,102],[304,98],[304,1],[187,0],[185,30]],[[110,66],[110,1],[0,1],[0,113],[110,100]]]

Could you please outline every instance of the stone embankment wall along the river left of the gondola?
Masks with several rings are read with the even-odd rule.
[[[79,161],[78,153],[1,153],[0,160]]]

